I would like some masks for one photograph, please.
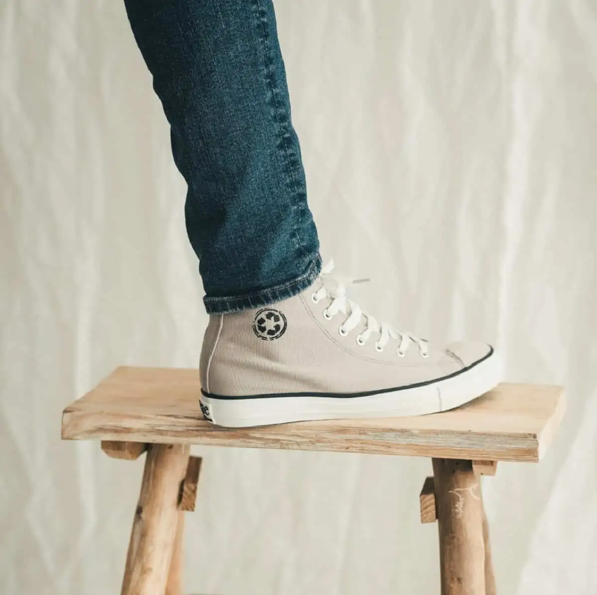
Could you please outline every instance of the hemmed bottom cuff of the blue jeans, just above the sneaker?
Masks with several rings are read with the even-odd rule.
[[[241,310],[252,310],[261,306],[269,306],[277,301],[288,300],[300,294],[315,283],[321,273],[321,257],[318,256],[310,265],[304,275],[297,277],[282,285],[267,289],[260,289],[250,294],[234,295],[232,297],[207,297],[203,298],[208,314],[230,314]]]

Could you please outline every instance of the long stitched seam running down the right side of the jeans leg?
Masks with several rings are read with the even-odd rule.
[[[272,108],[273,108],[273,115],[278,125],[278,132],[279,132],[279,146],[281,146],[281,154],[282,154],[282,161],[284,162],[284,167],[287,173],[287,183],[290,182],[289,190],[291,193],[294,194],[294,204],[293,204],[293,211],[294,215],[297,220],[296,227],[294,228],[294,243],[296,247],[303,253],[306,258],[309,258],[309,254],[307,254],[306,249],[304,248],[303,244],[300,241],[300,223],[301,223],[301,209],[300,205],[298,205],[298,190],[297,190],[297,181],[293,171],[293,165],[291,164],[290,156],[288,155],[288,143],[287,143],[287,131],[285,131],[284,122],[281,119],[281,110],[278,104],[278,99],[276,96],[276,85],[275,81],[273,80],[273,64],[271,60],[271,46],[269,42],[269,34],[267,33],[267,17],[266,13],[261,7],[260,0],[254,0],[253,7],[257,11],[257,20],[260,25],[260,37],[261,41],[263,42],[263,58],[264,58],[264,66],[266,72],[266,81],[269,87],[270,94],[272,95]]]

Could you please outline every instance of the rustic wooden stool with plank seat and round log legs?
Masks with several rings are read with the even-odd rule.
[[[64,439],[102,440],[115,458],[147,451],[122,595],[181,595],[183,511],[195,507],[201,467],[192,444],[431,457],[421,522],[438,520],[442,595],[493,595],[479,474],[540,460],[565,409],[559,387],[500,384],[435,415],[229,430],[204,421],[199,390],[194,369],[118,368],[64,409]]]

